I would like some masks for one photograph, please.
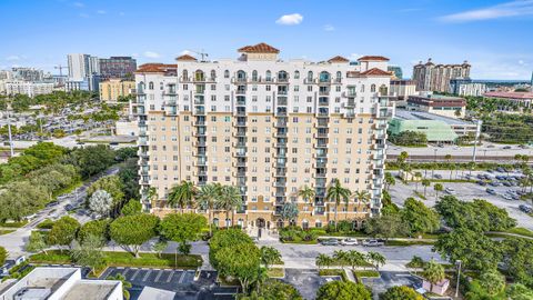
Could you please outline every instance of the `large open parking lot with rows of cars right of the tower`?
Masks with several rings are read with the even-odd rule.
[[[424,172],[422,172],[424,173]],[[443,177],[443,179],[449,179],[450,171],[435,171],[435,173],[439,173]],[[477,180],[476,176],[477,174],[486,174],[492,178],[491,181],[497,181],[497,182],[505,182],[507,180],[497,180],[495,179],[496,176],[517,176],[519,173],[489,173],[489,172],[472,172],[473,180]],[[461,171],[457,174],[457,178],[465,178],[469,174],[469,172],[464,172],[461,174]],[[428,176],[431,177],[431,171],[428,172]],[[463,176],[463,177],[462,177]],[[453,172],[453,179],[455,179],[455,172]],[[485,180],[486,181],[486,180]],[[435,204],[435,191],[433,190],[433,186],[435,182],[432,182],[431,187],[428,187],[426,190],[426,199],[424,203],[429,207],[433,207]],[[513,200],[512,196],[516,194],[522,188],[521,187],[505,187],[503,184],[497,186],[497,187],[492,187],[490,184],[486,186],[480,186],[477,183],[471,183],[471,182],[441,182],[444,188],[450,188],[453,191],[451,193],[447,193],[446,191],[442,191],[439,193],[440,196],[444,194],[453,194],[457,197],[460,200],[465,200],[465,201],[472,201],[473,199],[484,199],[494,206],[499,208],[504,208],[509,216],[516,219],[517,226],[527,228],[530,230],[533,230],[533,218],[527,216],[525,212],[520,210],[521,204],[527,204],[531,206],[531,203],[526,203],[525,201],[522,200]],[[419,199],[414,194],[416,184],[414,182],[410,182],[409,184],[403,184],[400,180],[396,180],[396,184],[392,186],[390,188],[390,194],[392,198],[392,201],[399,206],[403,206],[403,202],[405,201],[406,198],[409,197],[414,197],[415,199]],[[492,189],[494,192],[489,193],[486,190]],[[422,184],[419,182],[419,192],[421,194],[424,193],[424,188]]]

